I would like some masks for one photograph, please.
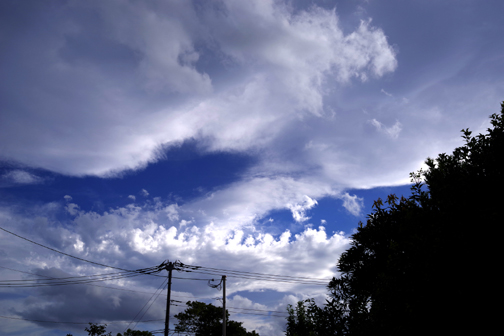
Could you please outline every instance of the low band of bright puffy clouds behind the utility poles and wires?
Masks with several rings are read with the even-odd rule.
[[[307,204],[310,203],[308,199],[305,200]],[[170,206],[173,206],[171,209],[177,209],[181,217],[187,215],[183,212],[184,206],[163,204],[160,208],[145,204],[110,209],[103,214],[80,210],[77,216],[65,223],[58,222],[60,210],[54,206],[28,208],[23,211],[2,208],[0,217],[11,218],[16,222],[16,228],[11,228],[13,231],[46,246],[88,260],[99,260],[104,264],[128,269],[157,265],[169,258],[180,259],[192,265],[222,269],[229,269],[229,265],[233,265],[234,269],[245,272],[253,269],[260,273],[329,280],[335,275],[335,261],[349,243],[345,236],[339,233],[329,235],[322,227],[305,228],[297,234],[284,230],[274,235],[237,228],[227,228],[223,233],[216,230],[216,224],[211,222],[210,217],[206,221],[200,218],[195,223],[177,228],[170,224],[170,213],[166,210]],[[32,213],[37,213],[38,217],[31,216]],[[50,221],[52,225],[37,225],[41,221]],[[103,269],[94,265],[53,252],[34,254],[32,251],[35,250],[32,248],[38,247],[20,245],[12,239],[5,239],[5,232],[0,232],[0,235],[6,241],[4,248],[9,249],[9,254],[0,253],[0,261],[4,265],[18,269],[32,267],[32,273],[45,277],[104,273]],[[16,259],[9,257],[12,255],[16,255]],[[118,260],[121,260],[120,264],[117,263]],[[75,316],[80,316],[84,321],[110,322],[124,320],[125,316],[133,318],[130,315],[138,311],[138,302],[147,300],[149,293],[153,293],[162,280],[143,276],[109,281],[99,284],[98,287],[85,286],[79,291],[75,291],[71,286],[35,288],[30,292],[33,295],[26,297],[24,306],[17,308],[15,313],[27,319],[54,321],[75,321]],[[195,298],[210,300],[216,295],[206,285],[195,286],[190,281],[175,280],[172,288],[175,291],[173,299],[183,302]],[[318,297],[325,293],[324,286],[230,277],[227,283],[229,306],[285,309],[281,302],[272,303],[270,306],[258,303],[254,299],[254,293],[264,290],[299,297]],[[83,304],[76,307],[75,302]],[[149,319],[162,319],[163,316],[160,316],[159,312],[163,311],[164,304],[163,300],[156,301],[154,308],[158,309],[149,310],[146,316]],[[96,305],[100,308],[96,308]],[[44,309],[40,309],[41,306],[44,306]],[[181,309],[183,308],[174,308],[175,313]],[[250,327],[262,326],[265,332],[268,328],[274,329],[265,335],[280,332],[284,323],[283,319],[280,319],[282,321],[276,326],[275,323],[254,320],[247,316],[237,317],[246,321]]]

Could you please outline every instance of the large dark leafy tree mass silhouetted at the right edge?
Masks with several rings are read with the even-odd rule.
[[[501,264],[503,115],[504,102],[486,134],[462,130],[465,145],[428,158],[409,197],[374,202],[338,261],[330,299],[290,306],[287,336],[485,333]]]

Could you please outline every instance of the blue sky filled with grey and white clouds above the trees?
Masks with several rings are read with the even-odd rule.
[[[168,260],[202,267],[173,272],[172,316],[226,275],[231,319],[282,335],[373,201],[489,126],[503,11],[0,1],[0,334],[160,330],[166,270],[125,276]],[[69,277],[108,280],[43,286]]]

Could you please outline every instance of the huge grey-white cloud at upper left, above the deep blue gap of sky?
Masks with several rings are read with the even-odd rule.
[[[331,10],[222,5],[203,5],[203,15],[190,2],[74,3],[40,14],[56,19],[43,29],[32,21],[40,43],[20,38],[9,52],[28,56],[6,66],[24,69],[36,57],[40,66],[26,74],[23,88],[36,91],[44,78],[45,94],[10,96],[10,105],[28,115],[22,122],[19,114],[4,115],[3,157],[69,175],[108,176],[144,167],[162,146],[187,139],[203,140],[209,150],[265,148],[300,117],[323,116],[326,83],[379,77],[396,67],[383,31],[369,21],[345,35]],[[77,20],[82,11],[98,22]],[[72,49],[88,41],[102,44]],[[110,51],[122,70],[105,66],[93,48]],[[232,81],[212,84],[215,69],[204,66],[212,57],[220,58],[214,66],[222,73],[224,62],[232,63]],[[61,94],[62,87],[73,94]]]

